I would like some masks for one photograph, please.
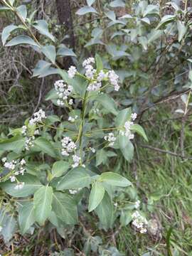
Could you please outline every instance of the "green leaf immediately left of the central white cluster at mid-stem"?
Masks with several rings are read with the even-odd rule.
[[[56,157],[55,148],[47,139],[38,137],[38,139],[35,140],[34,145],[39,151],[42,151],[54,158]]]

